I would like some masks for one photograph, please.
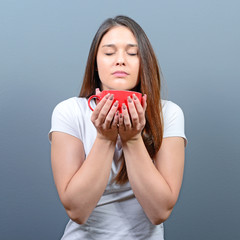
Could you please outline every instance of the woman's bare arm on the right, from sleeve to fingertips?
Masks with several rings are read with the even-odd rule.
[[[150,221],[160,224],[169,217],[179,195],[184,140],[181,137],[163,139],[153,163],[140,135],[145,125],[146,99],[143,107],[137,99],[129,99],[128,106],[130,116],[123,109],[119,129],[129,181]]]

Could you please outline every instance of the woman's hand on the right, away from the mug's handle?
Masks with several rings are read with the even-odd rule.
[[[141,137],[141,132],[146,124],[146,108],[146,94],[142,97],[142,104],[134,94],[132,98],[128,97],[129,110],[125,104],[122,105],[122,113],[119,117],[119,135],[123,144]]]

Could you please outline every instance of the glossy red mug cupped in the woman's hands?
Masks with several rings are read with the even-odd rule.
[[[142,104],[142,94],[139,92],[134,92],[134,91],[118,91],[118,90],[104,90],[102,91],[99,95],[92,95],[89,99],[88,99],[88,106],[89,108],[94,111],[94,109],[92,108],[92,106],[90,105],[90,101],[93,98],[97,98],[98,100],[102,100],[104,98],[104,96],[106,96],[108,93],[113,94],[114,95],[114,102],[118,101],[118,111],[121,113],[122,112],[122,104],[125,103],[126,107],[128,107],[127,104],[127,99],[128,96],[132,97],[133,94],[136,95],[136,97],[139,99],[140,103]]]

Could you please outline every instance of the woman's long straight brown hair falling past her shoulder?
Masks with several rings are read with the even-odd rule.
[[[108,18],[99,27],[90,47],[79,97],[88,98],[95,94],[96,88],[101,89],[101,81],[98,71],[96,71],[97,51],[103,36],[114,26],[125,26],[130,29],[138,43],[140,81],[134,90],[147,94],[146,125],[142,131],[142,138],[150,157],[153,158],[161,146],[163,136],[160,72],[157,58],[148,37],[133,19],[126,16]],[[128,175],[124,156],[121,159],[121,168],[114,180],[118,184],[125,184],[128,181]]]

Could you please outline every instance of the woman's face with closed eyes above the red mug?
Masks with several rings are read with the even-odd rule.
[[[111,28],[97,52],[102,90],[131,90],[138,84],[140,59],[137,40],[124,26]]]

